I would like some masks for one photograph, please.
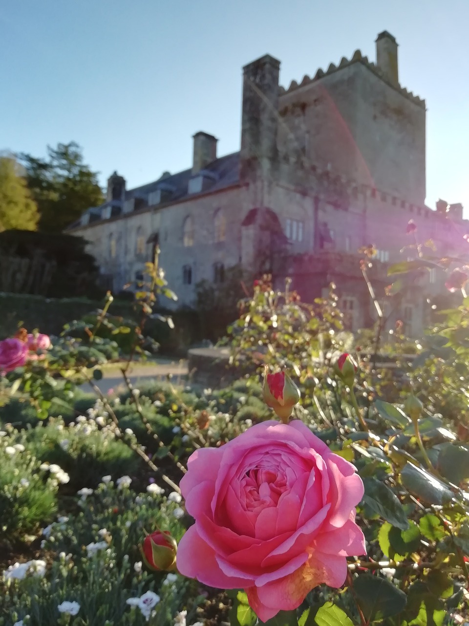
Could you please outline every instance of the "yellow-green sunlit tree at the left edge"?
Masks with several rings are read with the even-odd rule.
[[[38,220],[38,207],[18,162],[12,156],[0,156],[0,231],[36,230]]]

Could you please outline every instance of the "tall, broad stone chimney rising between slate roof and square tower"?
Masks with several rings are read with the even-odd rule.
[[[280,61],[266,54],[243,68],[241,180],[260,172],[273,177],[278,165],[278,76]]]

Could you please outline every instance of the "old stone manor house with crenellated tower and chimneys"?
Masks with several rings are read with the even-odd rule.
[[[290,276],[310,302],[334,281],[356,330],[374,313],[358,249],[377,249],[371,274],[381,295],[388,264],[416,255],[401,252],[413,241],[409,220],[438,254],[467,245],[460,204],[425,206],[425,100],[400,85],[390,33],[376,38],[375,62],[356,50],[288,88],[279,73],[269,54],[243,69],[240,151],[218,156],[216,138],[197,132],[187,170],[134,189],[114,172],[106,202],[71,225],[114,291],[141,277],[158,245],[178,305],[193,302],[199,281],[220,284],[241,266],[271,272],[279,287]],[[394,319],[408,334],[420,334],[442,282],[425,272],[398,302]]]

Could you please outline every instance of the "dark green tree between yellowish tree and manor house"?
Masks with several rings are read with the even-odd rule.
[[[81,147],[74,141],[48,146],[45,160],[23,154],[21,161],[41,214],[39,229],[44,232],[61,232],[87,208],[104,202],[98,173],[83,163]]]

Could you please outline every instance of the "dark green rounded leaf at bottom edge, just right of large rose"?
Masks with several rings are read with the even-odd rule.
[[[385,578],[360,574],[353,582],[360,608],[366,620],[383,620],[400,613],[406,605],[406,595]]]

